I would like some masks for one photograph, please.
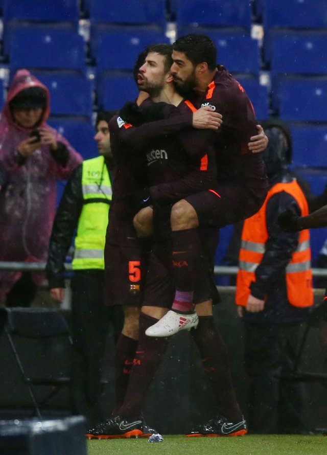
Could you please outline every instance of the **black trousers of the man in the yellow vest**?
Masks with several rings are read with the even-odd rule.
[[[71,281],[73,355],[71,396],[73,411],[88,425],[103,420],[101,367],[110,324],[115,339],[123,327],[121,307],[104,306],[104,271],[76,270]],[[112,346],[114,349],[114,346]]]

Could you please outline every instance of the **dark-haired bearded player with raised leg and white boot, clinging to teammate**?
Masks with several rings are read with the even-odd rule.
[[[180,317],[194,317],[195,264],[201,248],[197,227],[223,227],[252,216],[262,206],[268,188],[261,153],[253,154],[248,147],[256,130],[253,106],[238,81],[224,66],[217,66],[214,42],[206,35],[187,35],[177,39],[173,49],[171,73],[178,90],[187,94],[197,108],[210,106],[220,112],[223,123],[213,142],[216,186],[184,197],[172,208],[175,298],[172,310],[146,332],[164,337],[183,330]],[[205,317],[212,314],[211,303],[198,305],[197,312]],[[203,324],[207,324],[206,319]]]

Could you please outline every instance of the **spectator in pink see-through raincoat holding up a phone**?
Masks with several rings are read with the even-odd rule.
[[[67,179],[82,162],[68,141],[45,123],[49,113],[48,88],[29,71],[17,71],[0,119],[0,165],[7,174],[0,194],[0,261],[46,262],[56,179]],[[31,278],[32,300],[43,274],[24,275]],[[21,272],[0,270],[0,303],[20,277]]]

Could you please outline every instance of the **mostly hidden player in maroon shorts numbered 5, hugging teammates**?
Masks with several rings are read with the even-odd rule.
[[[147,53],[142,57],[142,63]],[[138,68],[142,63],[137,65]],[[141,102],[143,95],[138,99]],[[169,107],[169,106],[168,106]],[[173,107],[173,106],[172,106]],[[201,109],[193,113],[187,106],[187,115],[171,117],[169,121],[149,123],[146,128],[139,128],[138,145],[142,141],[149,141],[149,134],[158,137],[160,134],[173,133],[183,128],[217,129],[221,123],[221,116],[207,109]],[[122,110],[123,111],[123,110]],[[123,126],[124,125],[124,126]],[[135,357],[138,343],[138,317],[142,305],[143,283],[147,268],[147,254],[149,240],[137,238],[133,226],[133,217],[136,207],[126,198],[127,194],[137,192],[146,185],[145,175],[146,156],[134,154],[130,156],[127,149],[120,143],[120,128],[126,129],[124,121],[115,116],[110,122],[111,145],[116,161],[115,176],[113,180],[113,198],[109,212],[110,226],[108,225],[107,240],[105,246],[105,272],[106,272],[106,303],[107,305],[122,305],[124,308],[125,321],[121,336],[115,348],[115,407],[118,409],[123,402],[130,371]],[[126,129],[126,132],[130,130]],[[146,136],[142,135],[146,133]],[[169,188],[157,185],[154,192],[165,194],[166,197],[185,194],[178,181],[172,183]],[[181,192],[182,191],[182,192]],[[189,194],[189,193],[186,193]],[[144,335],[144,331],[143,331]],[[144,335],[145,336],[145,335]],[[142,417],[141,417],[142,419]],[[144,420],[140,420],[135,430],[138,436],[146,436],[154,433]],[[125,431],[125,436],[133,432]],[[92,437],[92,432],[88,433]]]

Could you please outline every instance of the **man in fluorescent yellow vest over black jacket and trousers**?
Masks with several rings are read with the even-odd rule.
[[[104,306],[104,244],[111,201],[113,162],[107,112],[99,113],[95,135],[100,156],[84,161],[65,187],[54,220],[46,274],[50,294],[64,298],[64,262],[74,232],[72,287],[72,404],[89,425],[103,420],[101,367],[110,322],[118,336],[120,307]]]

